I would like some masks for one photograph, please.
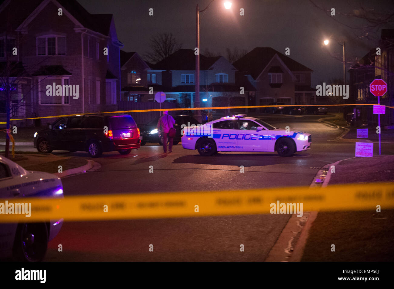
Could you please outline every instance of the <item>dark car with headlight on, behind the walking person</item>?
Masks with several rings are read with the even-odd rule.
[[[175,115],[172,116],[175,120],[175,125],[174,128],[177,130],[177,135],[174,138],[173,144],[177,145],[180,142],[180,138],[182,137],[181,135],[181,130],[185,126],[190,126],[190,125],[199,125],[197,120],[195,120],[193,117],[189,115]],[[141,127],[141,145],[145,145],[147,142],[154,142],[154,143],[159,143],[160,145],[162,144],[162,141],[160,140],[159,137],[159,132],[157,129],[157,123],[159,122],[160,116],[154,118],[153,120],[149,121],[146,125],[139,125]],[[184,124],[183,127],[182,124]]]

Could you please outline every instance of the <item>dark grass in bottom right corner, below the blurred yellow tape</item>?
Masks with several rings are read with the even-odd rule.
[[[301,261],[392,261],[394,210],[319,212]],[[331,245],[335,252],[331,252]]]

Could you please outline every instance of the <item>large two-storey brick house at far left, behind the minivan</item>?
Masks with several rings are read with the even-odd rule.
[[[123,44],[112,14],[92,15],[75,0],[6,0],[0,19],[0,62],[26,70],[15,83],[12,117],[117,110]],[[53,83],[78,85],[78,98],[61,90],[48,96]]]

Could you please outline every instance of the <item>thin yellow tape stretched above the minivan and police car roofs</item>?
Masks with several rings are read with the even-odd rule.
[[[361,105],[374,105],[374,104],[328,104],[324,105],[325,107],[329,106],[361,106]],[[321,106],[321,105],[281,105],[281,107],[313,107],[313,106]],[[128,112],[149,112],[149,111],[172,111],[172,110],[210,110],[210,109],[253,109],[253,108],[260,108],[260,107],[278,107],[278,105],[253,105],[253,106],[234,106],[234,107],[189,107],[189,108],[179,108],[179,109],[139,109],[139,110],[118,110],[118,111],[108,111],[108,112],[90,112],[90,113],[78,113],[78,114],[62,114],[62,115],[55,115],[55,116],[41,116],[37,118],[13,118],[13,120],[36,120],[41,118],[63,118],[65,116],[76,116],[76,115],[85,115],[85,114],[103,114],[103,113],[128,113]],[[390,107],[394,108],[394,107]],[[0,124],[6,123],[5,121],[0,121]]]

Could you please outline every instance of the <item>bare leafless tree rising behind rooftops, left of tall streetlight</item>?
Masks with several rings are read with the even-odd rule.
[[[144,54],[144,58],[152,63],[158,63],[165,57],[182,48],[171,32],[157,33],[151,38],[151,51]]]

